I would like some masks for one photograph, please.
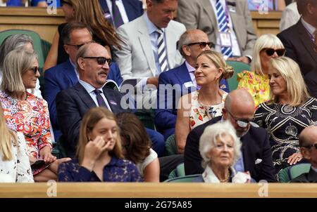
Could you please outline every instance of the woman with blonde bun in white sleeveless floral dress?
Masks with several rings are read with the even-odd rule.
[[[175,138],[179,153],[184,152],[186,138],[192,128],[222,115],[228,93],[219,88],[219,81],[229,79],[233,72],[220,53],[204,51],[197,56],[195,78],[201,88],[183,95],[178,103]]]

